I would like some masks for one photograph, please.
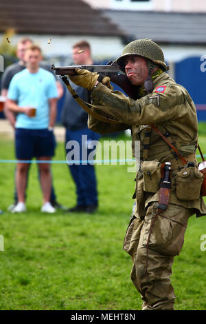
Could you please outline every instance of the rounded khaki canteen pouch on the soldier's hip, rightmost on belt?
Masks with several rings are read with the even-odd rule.
[[[191,163],[191,162],[189,162]],[[188,163],[188,165],[189,165]],[[194,165],[194,163],[192,163]],[[176,196],[181,200],[196,200],[201,196],[203,173],[196,166],[187,166],[176,174]]]

